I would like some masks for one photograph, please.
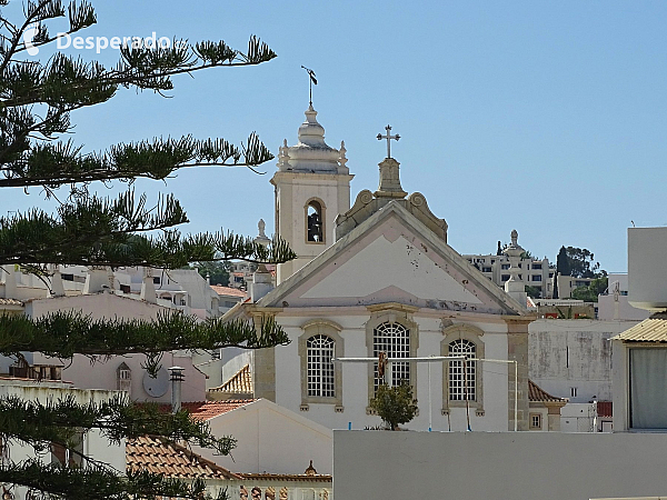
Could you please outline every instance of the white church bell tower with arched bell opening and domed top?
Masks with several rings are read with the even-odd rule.
[[[335,239],[335,219],[350,208],[350,174],[345,143],[340,149],[325,142],[325,128],[312,104],[299,127],[299,141],[278,154],[278,171],[271,179],[276,193],[276,233],[298,258],[278,266],[277,284],[329,248]]]

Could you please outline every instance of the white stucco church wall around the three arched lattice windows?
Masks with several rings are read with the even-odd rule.
[[[345,357],[367,357],[366,322],[369,316],[325,316],[342,327],[339,332],[345,342]],[[276,402],[291,411],[299,412],[301,404],[301,372],[298,356],[298,338],[303,333],[300,328],[312,317],[278,316],[278,321],[291,339],[289,346],[279,346],[276,354]],[[417,356],[440,356],[442,327],[439,318],[415,316],[419,324],[419,348]],[[485,330],[481,340],[485,342],[485,358],[507,359],[507,326],[502,323],[470,323]],[[430,393],[432,407],[432,429],[465,430],[467,428],[466,409],[451,408],[449,419],[441,414],[442,409],[442,363],[430,363]],[[335,404],[309,404],[308,411],[301,414],[321,423],[329,429],[347,429],[351,422],[354,429],[381,424],[377,416],[367,414],[368,407],[368,368],[365,363],[342,364],[342,412],[335,411]],[[428,366],[417,367],[417,399],[419,414],[405,427],[427,430],[428,420]],[[470,410],[470,424],[474,430],[507,430],[508,428],[508,376],[507,366],[482,363],[484,409],[485,414],[477,417]],[[514,372],[512,372],[514,373]],[[514,374],[512,374],[514,377]]]

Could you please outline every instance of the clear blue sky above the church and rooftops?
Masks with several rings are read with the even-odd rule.
[[[561,244],[585,247],[604,269],[625,271],[630,220],[667,224],[667,2],[93,4],[98,24],[84,36],[156,31],[243,48],[257,34],[278,58],[182,76],[170,99],[121,90],[72,117],[86,150],[188,133],[238,143],[256,130],[277,154],[303,120],[305,64],[319,80],[313,103],[327,142],[346,142],[352,201],[377,187],[386,147],[376,136],[391,123],[404,189],[427,197],[461,253],[494,252],[516,228],[535,256],[555,261]],[[110,49],[78,52],[117,59]],[[137,187],[176,193],[192,221],[186,231],[255,234],[259,218],[273,224],[275,161],[265,170],[191,169]],[[39,198],[3,192],[0,208]]]

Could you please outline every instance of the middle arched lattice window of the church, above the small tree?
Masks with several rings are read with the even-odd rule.
[[[387,358],[409,358],[410,357],[410,330],[400,323],[386,321],[378,324],[372,331],[372,357],[377,358],[380,352],[386,352]],[[374,388],[384,383],[382,378],[378,377],[378,363],[374,364]],[[391,363],[391,384],[398,386],[402,380],[410,382],[410,363]]]

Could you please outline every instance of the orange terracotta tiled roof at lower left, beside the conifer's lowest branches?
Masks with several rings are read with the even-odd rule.
[[[128,472],[147,470],[169,478],[241,479],[240,476],[176,443],[141,437],[126,443]]]

